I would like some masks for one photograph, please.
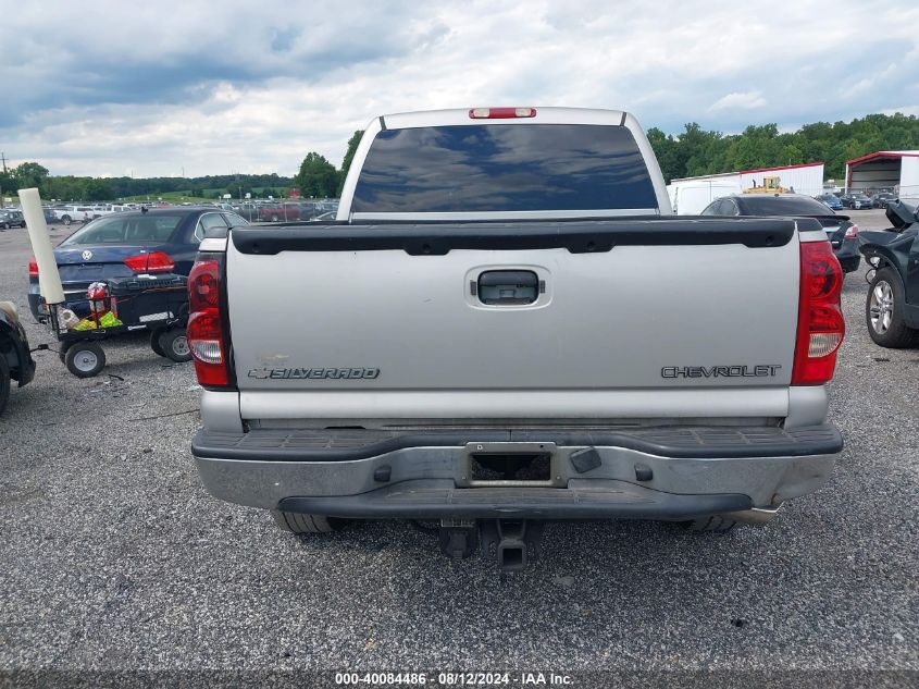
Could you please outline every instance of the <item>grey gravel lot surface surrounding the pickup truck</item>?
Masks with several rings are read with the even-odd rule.
[[[23,311],[29,256],[24,231],[0,233],[0,298]],[[403,522],[301,539],[212,499],[189,454],[193,368],[145,339],[107,345],[90,380],[37,353],[0,417],[0,669],[915,673],[919,350],[871,343],[862,274],[843,293],[828,487],[720,537],[550,525],[545,557],[508,580]]]

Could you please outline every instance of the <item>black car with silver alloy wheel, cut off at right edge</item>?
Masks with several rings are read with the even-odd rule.
[[[887,206],[889,231],[859,237],[869,272],[865,321],[882,347],[919,345],[919,210],[895,201]]]

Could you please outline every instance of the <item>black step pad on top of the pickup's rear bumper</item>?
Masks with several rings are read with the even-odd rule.
[[[482,429],[386,431],[364,429],[198,431],[191,453],[213,459],[347,462],[407,447],[464,446],[474,442],[551,442],[560,446],[612,446],[673,458],[800,457],[843,448],[830,423],[781,428],[663,427],[610,431]]]

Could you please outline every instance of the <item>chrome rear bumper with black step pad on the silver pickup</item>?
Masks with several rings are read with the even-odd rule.
[[[202,430],[193,454],[213,495],[268,509],[359,518],[678,519],[809,493],[830,478],[842,445],[831,425]],[[496,480],[482,469],[483,457],[536,457],[539,468],[520,480]]]

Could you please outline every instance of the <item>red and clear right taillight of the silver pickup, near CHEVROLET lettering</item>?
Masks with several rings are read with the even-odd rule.
[[[830,243],[803,242],[792,385],[822,385],[832,380],[845,335],[842,291],[843,269]]]

